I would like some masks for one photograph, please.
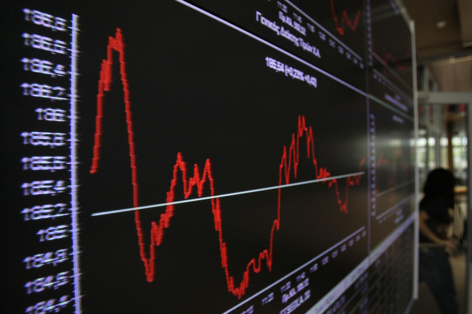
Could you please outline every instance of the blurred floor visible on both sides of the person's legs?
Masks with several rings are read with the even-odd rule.
[[[466,254],[461,253],[450,259],[452,273],[454,274],[454,283],[456,286],[457,303],[459,305],[459,314],[465,311],[465,278],[466,278]],[[418,286],[418,300],[413,304],[411,314],[441,314],[436,304],[436,300],[429,291],[425,283]]]

